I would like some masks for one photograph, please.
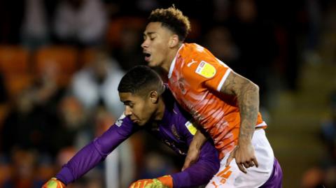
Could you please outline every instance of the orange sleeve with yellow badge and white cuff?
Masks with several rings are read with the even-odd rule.
[[[197,63],[188,64],[183,68],[183,76],[191,85],[200,85],[220,91],[226,78],[232,71],[230,67],[217,59],[208,50],[199,52],[195,59]]]

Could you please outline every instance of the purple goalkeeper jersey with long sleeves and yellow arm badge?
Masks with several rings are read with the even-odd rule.
[[[129,138],[139,129],[146,129],[153,136],[159,138],[178,154],[186,155],[188,147],[193,140],[195,127],[190,125],[190,115],[172,99],[166,91],[165,114],[158,126],[138,126],[129,117],[122,115],[102,136],[95,138],[90,144],[81,149],[61,171],[56,178],[66,185],[77,180],[90,171],[91,168],[103,161],[113,152],[120,143]],[[214,145],[208,140],[204,143],[198,161],[182,172],[172,174],[174,187],[195,187],[205,185],[218,172],[220,161]],[[154,178],[154,177],[153,177]]]

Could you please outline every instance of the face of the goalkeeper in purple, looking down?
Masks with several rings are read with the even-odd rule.
[[[153,103],[149,96],[121,92],[119,97],[125,105],[125,115],[139,126],[143,126],[151,120],[157,108],[156,103]]]

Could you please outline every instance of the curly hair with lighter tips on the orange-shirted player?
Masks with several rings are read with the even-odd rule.
[[[191,27],[188,17],[183,15],[181,10],[171,6],[169,8],[158,8],[151,12],[148,22],[161,22],[179,36],[180,41],[184,41],[188,36]]]

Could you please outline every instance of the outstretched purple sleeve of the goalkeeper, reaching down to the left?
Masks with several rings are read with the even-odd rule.
[[[129,138],[137,128],[132,121],[125,117],[118,119],[102,136],[95,138],[91,143],[78,151],[68,163],[62,166],[56,178],[68,185],[91,168],[103,161],[120,143]]]

